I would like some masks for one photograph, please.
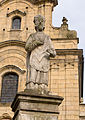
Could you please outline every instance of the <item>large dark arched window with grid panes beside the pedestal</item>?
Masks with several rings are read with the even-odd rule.
[[[6,73],[2,78],[1,102],[12,102],[18,89],[18,75],[16,73]]]

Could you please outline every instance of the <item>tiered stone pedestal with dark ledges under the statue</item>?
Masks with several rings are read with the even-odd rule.
[[[62,100],[60,96],[40,95],[32,90],[20,92],[11,106],[13,120],[57,120]]]

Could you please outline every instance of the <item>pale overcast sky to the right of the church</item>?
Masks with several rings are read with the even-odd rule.
[[[62,18],[66,17],[68,19],[69,29],[77,31],[78,34],[77,36],[79,37],[78,48],[83,49],[85,56],[85,38],[84,38],[85,13],[84,12],[85,12],[85,0],[58,0],[58,6],[56,6],[53,11],[53,26],[60,27],[62,23]],[[85,81],[85,76],[84,76],[84,81]],[[84,101],[85,101],[85,94],[84,94]]]

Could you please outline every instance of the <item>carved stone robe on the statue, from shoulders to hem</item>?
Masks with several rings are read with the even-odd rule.
[[[29,54],[30,81],[46,84],[50,67],[49,57],[56,55],[49,36],[43,32],[31,34],[26,42],[25,49]],[[36,79],[33,71],[37,72]]]

